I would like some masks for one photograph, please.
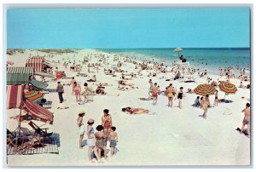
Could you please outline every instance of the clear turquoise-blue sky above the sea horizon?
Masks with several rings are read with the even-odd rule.
[[[249,8],[9,9],[8,49],[249,48]]]

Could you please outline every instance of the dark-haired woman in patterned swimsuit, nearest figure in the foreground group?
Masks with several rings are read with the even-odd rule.
[[[95,134],[95,138],[96,138],[96,151],[97,154],[99,156],[98,161],[99,163],[102,163],[102,150],[104,151],[104,158],[107,159],[107,135],[104,135],[104,133],[102,132],[103,126],[102,125],[98,125],[96,127],[96,134]]]

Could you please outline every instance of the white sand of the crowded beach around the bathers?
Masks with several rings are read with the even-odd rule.
[[[152,100],[139,100],[138,98],[148,97],[148,79],[160,85],[160,90],[165,90],[170,83],[178,90],[183,87],[195,89],[201,83],[207,83],[207,77],[212,80],[225,81],[225,77],[208,74],[207,77],[196,76],[195,83],[183,83],[178,80],[166,81],[173,78],[172,72],[160,73],[156,77],[147,77],[148,70],[142,70],[142,76],[132,78],[127,83],[134,83],[138,89],[119,90],[118,80],[121,73],[116,72],[117,77],[106,75],[104,68],[116,65],[118,61],[113,61],[114,54],[103,53],[94,49],[76,50],[78,53],[54,54],[54,58],[48,58],[47,53],[36,50],[28,50],[23,54],[17,53],[8,55],[8,60],[14,62],[13,66],[25,66],[26,59],[30,55],[44,56],[46,60],[60,61],[52,63],[53,69],[57,66],[59,70],[65,71],[67,77],[75,77],[84,90],[84,83],[93,75],[96,75],[96,83],[108,83],[105,87],[107,95],[94,95],[93,101],[79,105],[72,95],[72,86],[65,85],[63,94],[64,102],[59,103],[57,93],[49,93],[44,96],[47,100],[52,100],[50,112],[54,112],[54,122],[52,125],[42,122],[35,122],[38,125],[49,127],[49,131],[60,136],[59,154],[33,154],[33,155],[9,155],[7,157],[9,166],[121,166],[121,165],[249,165],[250,162],[250,139],[245,135],[240,135],[236,128],[241,128],[244,114],[241,112],[247,102],[250,102],[250,89],[238,88],[240,80],[231,78],[230,83],[237,87],[235,95],[226,95],[226,99],[233,100],[232,103],[219,103],[218,106],[208,109],[207,119],[201,118],[203,110],[191,106],[196,98],[195,94],[185,94],[182,108],[177,107],[177,100],[174,100],[172,108],[166,106],[167,98],[159,95],[157,105],[152,104]],[[109,65],[99,68],[99,71],[88,73],[87,65],[82,67],[81,73],[86,73],[88,77],[77,77],[77,72],[71,72],[63,66],[63,58],[69,59],[76,64],[83,60],[88,54],[108,55]],[[89,62],[96,63],[98,58],[92,58]],[[121,69],[127,73],[137,72],[135,65],[124,62],[123,57],[119,57],[122,63]],[[88,64],[88,63],[87,63]],[[38,78],[39,79],[39,78]],[[61,79],[61,83],[70,83],[71,79]],[[89,87],[96,89],[96,83],[89,83]],[[247,84],[248,82],[244,82]],[[56,89],[57,82],[49,81],[48,89]],[[241,97],[245,99],[241,99]],[[224,98],[224,92],[219,91],[218,98]],[[82,97],[82,100],[83,97]],[[210,95],[211,104],[214,102],[214,95]],[[58,107],[68,106],[68,109],[58,109]],[[128,115],[121,112],[121,108],[131,106],[149,110],[148,114]],[[113,118],[113,126],[119,136],[117,148],[119,152],[113,157],[108,153],[108,161],[104,163],[89,163],[87,158],[88,146],[79,149],[79,135],[77,134],[77,118],[81,110],[85,111],[84,123],[89,118],[93,118],[94,129],[101,124],[103,110],[108,109]],[[15,130],[17,121],[10,118],[19,114],[18,109],[7,110],[7,128]],[[29,128],[27,123],[22,126]],[[86,142],[84,135],[84,143]],[[107,145],[109,149],[109,142]]]

